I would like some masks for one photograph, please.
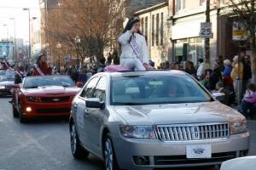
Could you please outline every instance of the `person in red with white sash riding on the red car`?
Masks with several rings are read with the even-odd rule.
[[[51,75],[52,68],[46,62],[46,55],[41,53],[38,55],[37,63],[34,65],[33,76]]]

